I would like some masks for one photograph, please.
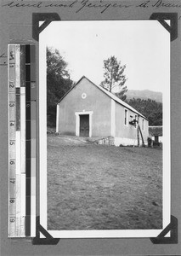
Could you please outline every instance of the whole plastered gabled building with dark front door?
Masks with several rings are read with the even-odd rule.
[[[137,145],[138,124],[147,144],[148,119],[118,97],[82,77],[57,104],[56,131],[80,137],[112,137],[114,144]],[[140,144],[142,143],[139,135]]]

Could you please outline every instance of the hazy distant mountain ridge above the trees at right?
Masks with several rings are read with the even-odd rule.
[[[127,90],[127,100],[132,98],[140,98],[140,99],[151,99],[156,102],[162,102],[162,93],[153,90]]]

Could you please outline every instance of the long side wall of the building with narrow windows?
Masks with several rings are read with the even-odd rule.
[[[138,119],[138,114],[132,110],[125,108],[124,106],[116,102],[116,125],[115,125],[115,144],[116,146],[122,145],[138,145],[138,129],[137,127],[130,125],[129,122],[133,119]],[[127,114],[125,114],[127,112]],[[144,121],[143,121],[144,120]],[[139,125],[144,137],[144,143],[147,144],[149,135],[148,120],[139,116]],[[142,143],[141,135],[139,133],[139,143]]]

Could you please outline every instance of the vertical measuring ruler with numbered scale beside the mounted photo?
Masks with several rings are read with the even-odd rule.
[[[36,236],[35,51],[8,45],[8,237]]]

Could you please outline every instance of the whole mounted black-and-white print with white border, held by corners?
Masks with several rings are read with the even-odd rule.
[[[158,236],[170,223],[169,32],[156,20],[53,21],[39,53],[42,226]]]

